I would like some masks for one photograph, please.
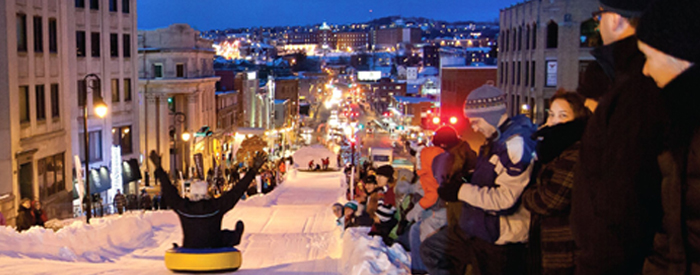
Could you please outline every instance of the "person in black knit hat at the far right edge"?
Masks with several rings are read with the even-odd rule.
[[[662,229],[643,274],[700,274],[700,2],[658,1],[642,15],[637,37],[643,73],[661,88],[670,123],[657,158],[663,175]]]

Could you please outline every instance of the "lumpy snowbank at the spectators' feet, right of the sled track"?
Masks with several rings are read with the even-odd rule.
[[[379,236],[369,236],[369,227],[348,228],[343,234],[342,274],[410,274],[408,252],[395,243],[387,247]]]

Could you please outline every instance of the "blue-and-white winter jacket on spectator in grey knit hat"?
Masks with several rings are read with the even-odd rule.
[[[519,201],[532,171],[535,141],[530,137],[535,131],[529,118],[518,115],[481,146],[471,182],[458,192],[464,202],[459,228],[467,236],[497,245],[527,241],[530,215]],[[514,159],[513,152],[520,156]]]

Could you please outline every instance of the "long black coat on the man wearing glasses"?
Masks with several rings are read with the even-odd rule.
[[[659,89],[642,74],[644,55],[629,37],[596,57],[611,90],[604,93],[581,139],[572,192],[571,226],[580,248],[578,274],[634,274],[660,226],[661,152],[665,112]],[[612,58],[612,60],[610,60]]]

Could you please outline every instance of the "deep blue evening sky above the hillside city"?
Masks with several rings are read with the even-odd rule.
[[[198,30],[366,22],[390,15],[494,21],[517,0],[139,0],[139,29],[188,23]],[[370,13],[370,10],[372,12]]]

